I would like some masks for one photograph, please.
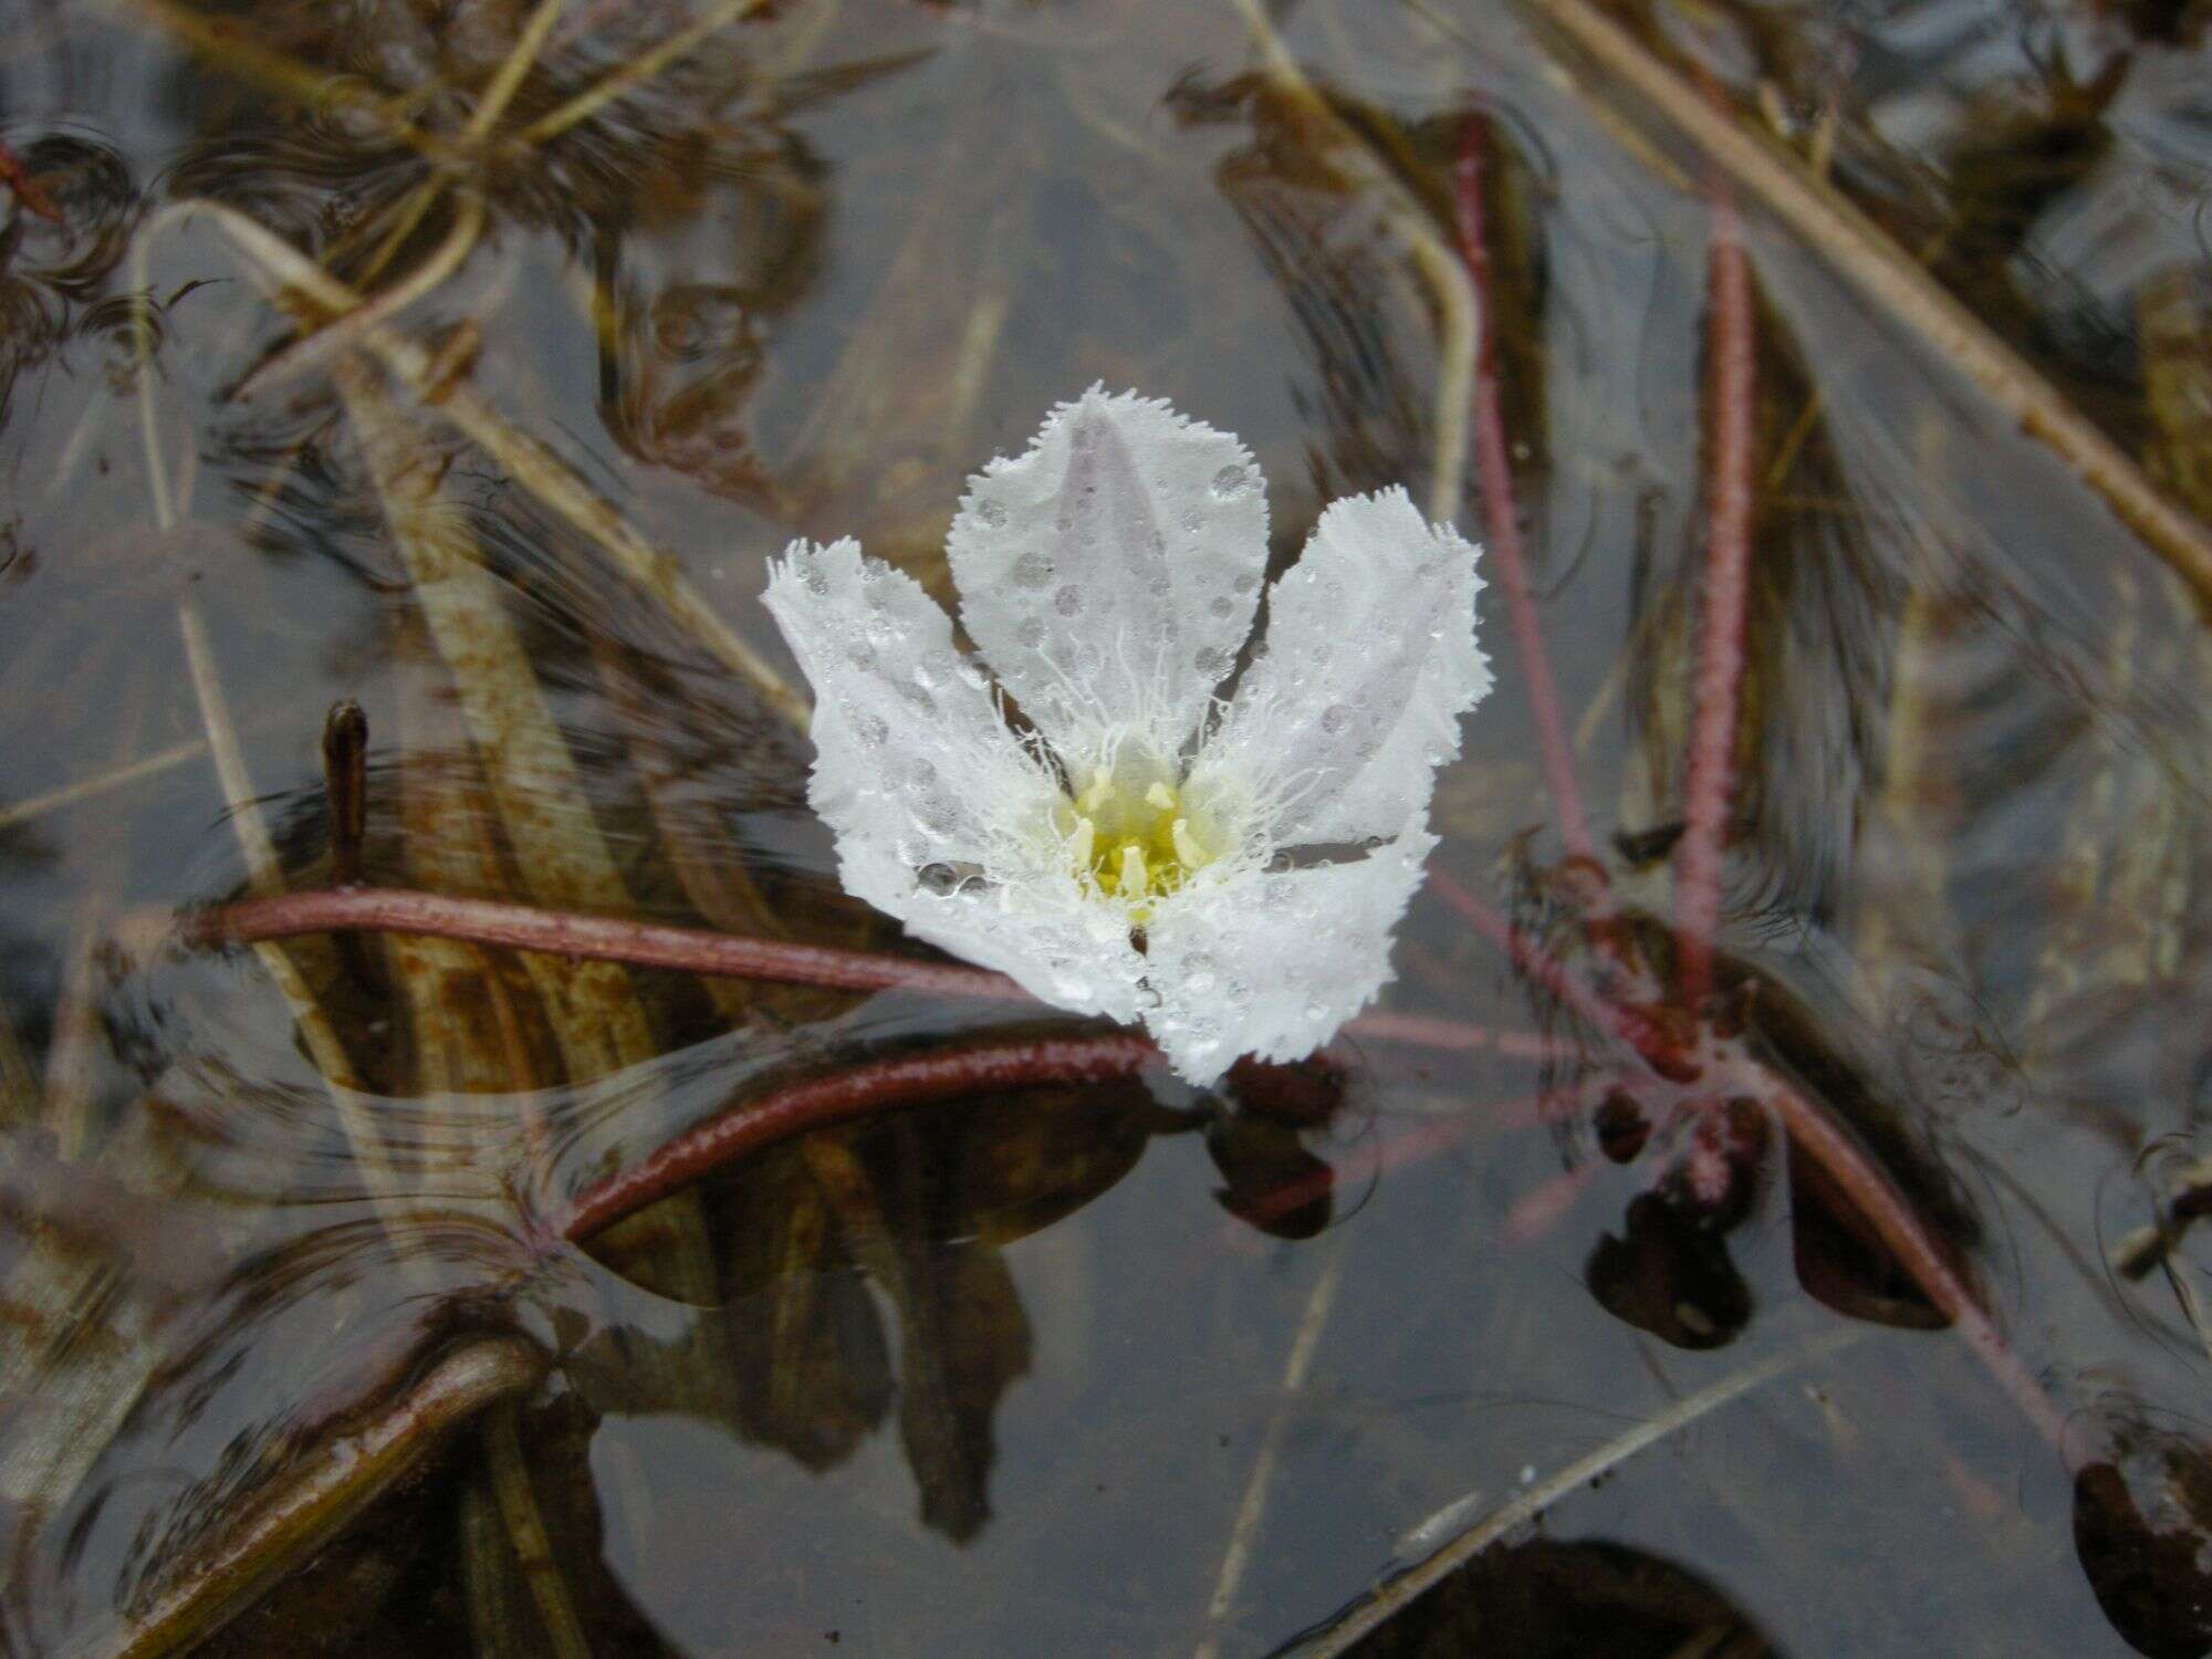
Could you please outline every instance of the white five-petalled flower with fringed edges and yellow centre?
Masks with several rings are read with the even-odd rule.
[[[1267,564],[1259,469],[1093,387],[971,480],[947,555],[973,655],[852,540],[770,568],[847,891],[1044,1002],[1141,1020],[1194,1084],[1327,1042],[1389,980],[1436,768],[1491,686],[1475,549],[1402,489],[1334,502],[1219,703]]]

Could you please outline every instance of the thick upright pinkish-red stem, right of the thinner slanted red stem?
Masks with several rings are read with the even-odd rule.
[[[1721,845],[1734,787],[1736,712],[1743,697],[1743,628],[1752,564],[1752,268],[1736,210],[1712,199],[1708,259],[1712,341],[1712,451],[1705,484],[1705,593],[1697,653],[1697,708],[1683,838],[1674,887],[1679,991],[1697,1006],[1712,989],[1712,936],[1721,920]]]

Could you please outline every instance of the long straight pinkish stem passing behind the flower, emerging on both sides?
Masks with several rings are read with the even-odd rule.
[[[832,945],[745,938],[708,927],[661,927],[615,916],[575,916],[495,898],[451,898],[409,887],[307,887],[270,898],[199,911],[181,925],[188,945],[250,945],[299,933],[389,929],[431,933],[476,945],[502,945],[549,956],[580,956],[630,967],[675,969],[710,978],[825,984],[841,991],[922,991],[984,1002],[1033,1002],[1004,973],[916,962],[883,951],[845,951]],[[1509,1055],[1544,1057],[1542,1037],[1484,1031],[1458,1020],[1376,1011],[1345,1024],[1345,1033],[1416,1048],[1471,1051],[1493,1046]]]

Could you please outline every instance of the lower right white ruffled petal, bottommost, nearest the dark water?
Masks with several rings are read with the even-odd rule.
[[[1201,869],[1159,900],[1146,1026],[1175,1071],[1203,1086],[1239,1055],[1298,1060],[1336,1035],[1389,982],[1391,929],[1433,849],[1413,823],[1365,858],[1217,880]]]

